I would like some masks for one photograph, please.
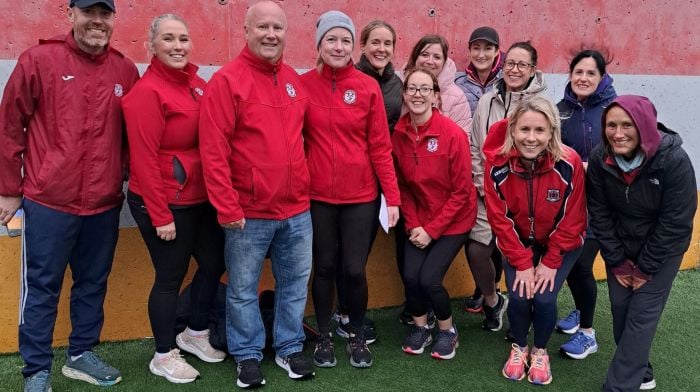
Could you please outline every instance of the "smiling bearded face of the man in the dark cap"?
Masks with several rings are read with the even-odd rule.
[[[81,50],[92,55],[104,52],[114,28],[114,12],[100,5],[70,7],[68,19],[73,23],[73,37]]]

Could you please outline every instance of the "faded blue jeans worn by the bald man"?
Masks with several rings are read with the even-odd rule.
[[[261,361],[265,327],[258,305],[258,284],[269,249],[275,278],[273,348],[287,357],[304,348],[313,230],[311,215],[289,219],[246,219],[245,228],[226,229],[226,339],[236,362]]]

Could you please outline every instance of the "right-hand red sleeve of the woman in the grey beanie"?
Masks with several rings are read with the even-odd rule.
[[[401,195],[396,181],[394,163],[391,158],[391,137],[389,136],[389,123],[384,110],[384,98],[382,98],[379,85],[375,84],[374,90],[374,102],[370,105],[370,115],[367,122],[369,127],[367,133],[369,157],[382,186],[387,206],[399,206],[401,205]]]

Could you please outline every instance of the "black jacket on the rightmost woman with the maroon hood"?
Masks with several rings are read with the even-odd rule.
[[[629,259],[642,272],[653,275],[666,259],[688,250],[697,208],[695,172],[677,133],[661,123],[656,124],[658,131],[645,131],[638,120],[647,113],[635,113],[629,102],[617,104],[642,128],[642,149],[653,152],[628,185],[603,137],[603,143],[591,152],[588,164],[590,225],[607,264],[616,266]],[[639,102],[632,103],[635,104]],[[654,110],[654,120],[655,114]],[[646,120],[649,125],[649,119]],[[655,132],[661,135],[656,148],[645,145],[645,135]],[[652,137],[658,138],[658,134]]]

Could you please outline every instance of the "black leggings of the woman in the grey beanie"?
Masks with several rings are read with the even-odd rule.
[[[378,212],[375,201],[358,204],[311,201],[314,229],[311,289],[316,323],[322,334],[330,332],[336,266],[342,266],[350,324],[357,329],[362,327],[367,311],[365,266],[376,235],[371,228]]]

